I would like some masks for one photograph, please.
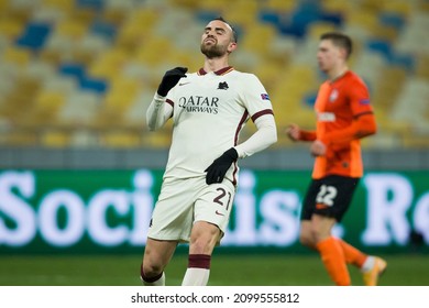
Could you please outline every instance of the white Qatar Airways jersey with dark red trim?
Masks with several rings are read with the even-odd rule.
[[[173,140],[165,179],[205,177],[205,169],[240,143],[249,119],[273,116],[270,97],[258,78],[232,67],[187,74],[168,92],[173,107]],[[238,165],[226,178],[237,184]]]

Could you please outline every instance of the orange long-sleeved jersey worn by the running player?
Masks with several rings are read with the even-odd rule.
[[[327,145],[327,153],[316,157],[312,177],[361,177],[363,164],[360,139],[376,131],[364,81],[350,70],[334,80],[324,81],[320,86],[315,111],[316,139]]]

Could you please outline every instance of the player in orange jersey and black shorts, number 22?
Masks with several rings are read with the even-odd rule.
[[[346,64],[351,53],[349,36],[321,35],[317,61],[328,79],[320,86],[315,103],[316,131],[290,124],[286,133],[293,141],[311,142],[315,156],[312,180],[302,204],[300,242],[318,251],[336,285],[351,284],[350,263],[361,268],[365,285],[374,286],[386,262],[331,234],[348,211],[363,175],[360,140],[376,133],[367,87]]]

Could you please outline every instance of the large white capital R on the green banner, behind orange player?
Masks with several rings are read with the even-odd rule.
[[[392,241],[405,245],[410,227],[407,210],[414,197],[407,178],[397,174],[370,174],[364,177],[367,189],[366,244],[387,245]]]

